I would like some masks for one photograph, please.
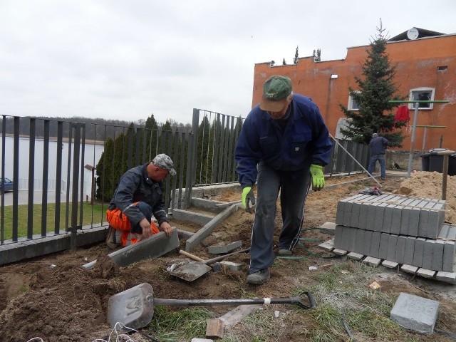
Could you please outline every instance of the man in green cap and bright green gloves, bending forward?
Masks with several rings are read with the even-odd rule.
[[[255,204],[252,187],[257,182],[249,284],[269,279],[279,192],[283,220],[279,255],[291,255],[299,241],[310,182],[314,190],[325,184],[323,166],[332,147],[328,128],[316,104],[291,90],[291,80],[285,76],[264,82],[261,102],[247,116],[237,142],[235,159],[247,212]]]

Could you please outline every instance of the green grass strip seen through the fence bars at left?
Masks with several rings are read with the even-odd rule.
[[[106,222],[105,210],[108,209],[108,204],[103,204],[103,212],[101,204],[83,203],[83,221],[82,225],[100,224],[101,219]],[[33,204],[33,234],[41,234],[41,219],[43,206],[41,204]],[[46,207],[46,232],[55,230],[56,221],[56,204],[50,203]],[[79,207],[78,207],[79,209]],[[27,236],[28,226],[28,204],[18,206],[18,237]],[[1,218],[1,224],[4,227],[4,239],[8,240],[12,237],[13,229],[13,206],[4,207],[4,217]],[[79,214],[78,214],[78,224]],[[60,230],[66,229],[66,203],[61,204],[60,209]],[[71,203],[68,204],[68,226],[71,227]],[[1,228],[1,227],[0,227]]]

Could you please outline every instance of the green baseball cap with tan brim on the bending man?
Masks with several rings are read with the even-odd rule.
[[[263,97],[259,103],[261,110],[279,112],[286,104],[286,98],[291,94],[291,79],[286,76],[271,76],[263,84]]]

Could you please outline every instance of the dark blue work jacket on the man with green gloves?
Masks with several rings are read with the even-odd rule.
[[[299,94],[293,95],[290,105],[284,130],[259,105],[247,115],[235,151],[242,187],[257,182],[260,161],[291,177],[309,172],[311,164],[328,164],[333,145],[317,105]]]

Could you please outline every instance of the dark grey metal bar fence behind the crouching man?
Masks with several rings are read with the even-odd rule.
[[[234,149],[242,123],[240,117],[199,109],[193,110],[190,132],[2,115],[0,173],[14,187],[0,194],[0,247],[69,233],[69,248],[75,249],[79,231],[107,226],[105,210],[123,172],[157,153],[170,155],[177,170],[165,180],[170,213],[190,207],[193,187],[237,182]],[[348,153],[367,165],[368,146],[339,142],[346,150],[333,145],[326,175],[361,171]],[[110,159],[110,153],[117,157]],[[118,172],[113,182],[100,177],[109,168]],[[43,254],[56,248],[43,248]]]

